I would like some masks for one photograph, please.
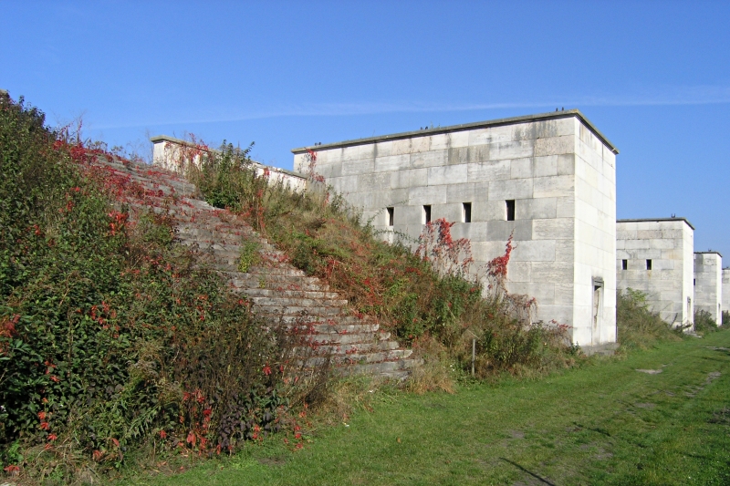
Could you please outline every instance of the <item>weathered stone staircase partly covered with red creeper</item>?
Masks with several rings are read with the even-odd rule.
[[[197,199],[195,186],[178,174],[109,156],[89,157],[89,170],[101,172],[118,200],[132,209],[132,219],[134,212],[150,208],[172,215],[179,241],[196,247],[207,263],[224,274],[232,291],[245,295],[255,315],[306,336],[302,359],[308,366],[330,359],[330,366],[341,374],[401,379],[420,362],[377,322],[356,315],[327,284],[290,264],[285,253],[243,218]],[[241,254],[251,242],[260,254],[259,262],[241,272]]]

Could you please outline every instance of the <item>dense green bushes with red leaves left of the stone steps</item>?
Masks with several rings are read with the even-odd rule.
[[[261,332],[174,243],[167,212],[130,218],[94,157],[110,154],[0,95],[5,472],[91,481],[140,448],[193,458],[297,427],[287,402],[299,388],[283,379],[296,342]]]

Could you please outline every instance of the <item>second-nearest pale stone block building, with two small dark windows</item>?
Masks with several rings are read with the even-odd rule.
[[[616,222],[619,290],[646,293],[673,326],[694,323],[694,226],[684,218]]]

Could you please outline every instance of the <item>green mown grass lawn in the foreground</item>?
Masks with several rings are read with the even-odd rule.
[[[276,438],[136,483],[730,484],[727,331],[537,381],[376,393],[371,405],[304,450]]]

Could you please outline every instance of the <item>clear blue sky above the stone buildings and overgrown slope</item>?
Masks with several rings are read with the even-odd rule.
[[[0,88],[50,125],[291,149],[580,109],[620,150],[619,218],[686,217],[730,264],[730,2],[0,4]]]

